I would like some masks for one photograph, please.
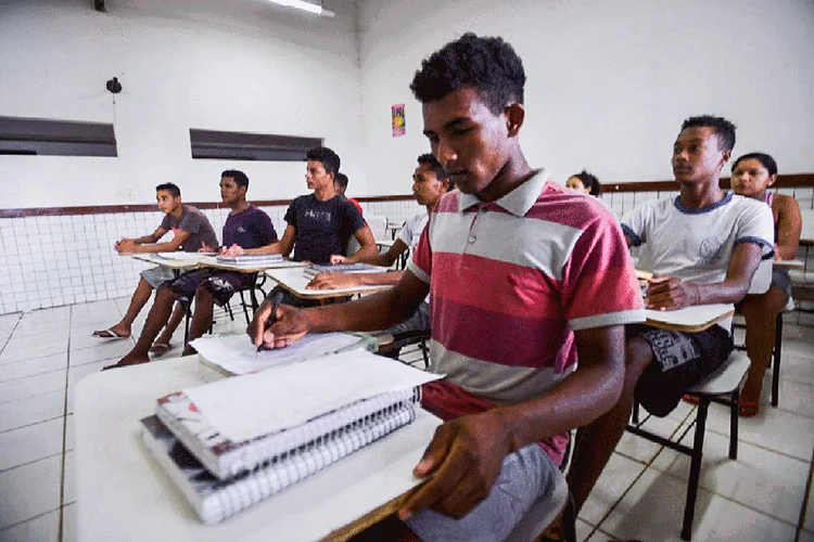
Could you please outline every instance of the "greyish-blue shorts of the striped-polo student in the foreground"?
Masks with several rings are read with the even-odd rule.
[[[406,524],[424,541],[506,540],[532,506],[551,495],[560,476],[559,468],[539,444],[530,444],[504,459],[500,476],[488,496],[462,518],[424,509]],[[560,505],[551,503],[552,507]]]

